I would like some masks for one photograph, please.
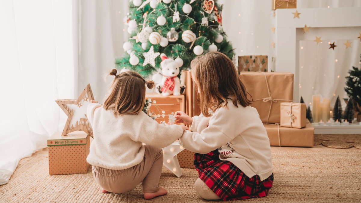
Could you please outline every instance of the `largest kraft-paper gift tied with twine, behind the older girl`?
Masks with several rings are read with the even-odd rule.
[[[280,103],[293,101],[293,74],[241,72],[239,76],[254,100],[251,107],[257,109],[262,122],[279,123]]]

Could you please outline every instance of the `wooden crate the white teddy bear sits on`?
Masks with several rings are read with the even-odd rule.
[[[162,111],[165,111],[164,118],[159,117],[155,120],[158,122],[165,121],[168,123],[168,115],[172,112],[183,111],[185,107],[185,99],[184,95],[170,95],[170,96],[162,96],[158,93],[147,93],[145,95],[146,99],[152,99],[152,102],[156,101],[156,103],[152,103],[150,107],[150,111],[155,113],[156,115],[162,115]]]

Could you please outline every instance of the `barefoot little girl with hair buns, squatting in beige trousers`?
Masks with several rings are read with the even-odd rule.
[[[103,193],[125,193],[143,181],[145,199],[165,195],[167,191],[158,183],[161,148],[181,137],[188,127],[158,124],[142,111],[145,86],[153,88],[153,81],[145,81],[134,71],[117,75],[113,69],[110,75],[114,80],[104,104],[92,100],[87,107],[94,135],[87,161],[93,165],[95,181]]]

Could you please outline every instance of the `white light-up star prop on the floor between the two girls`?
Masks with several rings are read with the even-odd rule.
[[[173,144],[163,148],[163,165],[178,178],[182,176],[182,170],[178,162],[177,154],[183,150],[184,148],[179,142],[173,142]]]

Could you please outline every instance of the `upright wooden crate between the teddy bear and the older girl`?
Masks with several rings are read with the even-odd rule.
[[[186,85],[184,95],[186,96],[186,113],[188,116],[199,116],[200,111],[200,99],[197,87],[193,84],[191,70],[182,70],[182,82]]]

